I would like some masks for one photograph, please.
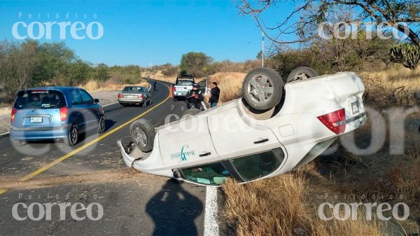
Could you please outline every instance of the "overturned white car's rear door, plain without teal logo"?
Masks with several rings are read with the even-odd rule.
[[[222,160],[282,147],[269,127],[244,120],[238,109],[221,107],[209,116],[211,140]]]

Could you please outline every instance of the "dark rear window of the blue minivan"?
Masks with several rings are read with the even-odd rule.
[[[25,90],[18,92],[15,109],[59,109],[66,106],[62,92],[58,90]]]

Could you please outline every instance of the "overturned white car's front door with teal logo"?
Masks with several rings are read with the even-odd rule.
[[[207,116],[183,118],[158,132],[160,153],[170,169],[220,160],[211,141]]]

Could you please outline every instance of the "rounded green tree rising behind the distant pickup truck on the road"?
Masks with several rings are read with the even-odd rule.
[[[181,71],[185,71],[187,74],[202,77],[207,75],[211,62],[213,62],[213,58],[205,53],[190,52],[182,55],[179,67]]]

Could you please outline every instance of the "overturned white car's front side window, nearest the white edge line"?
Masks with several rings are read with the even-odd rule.
[[[220,185],[230,173],[221,162],[181,169],[184,179],[207,185]]]

